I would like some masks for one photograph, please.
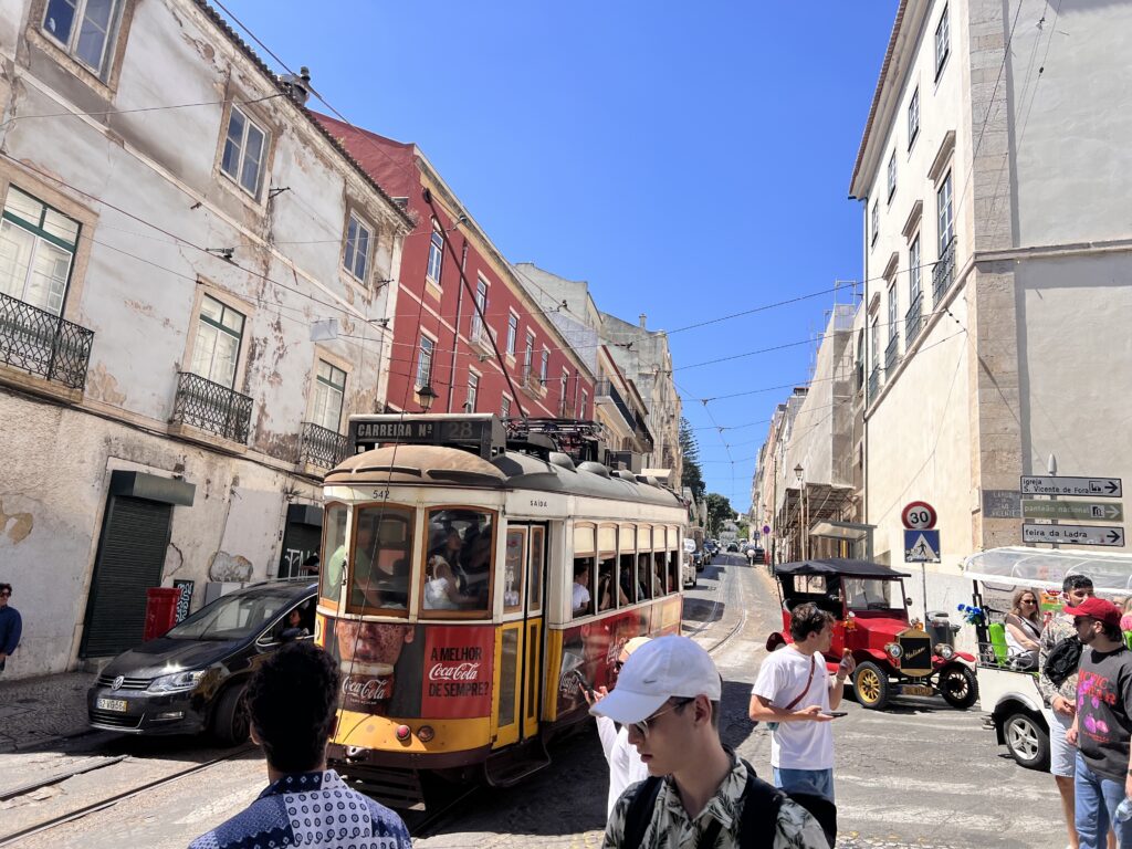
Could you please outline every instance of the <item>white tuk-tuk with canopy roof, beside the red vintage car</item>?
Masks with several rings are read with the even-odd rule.
[[[1088,575],[1103,598],[1132,594],[1132,555],[1012,546],[971,555],[963,563],[963,573],[974,585],[971,606],[976,610],[968,615],[978,637],[979,703],[988,714],[988,727],[1019,764],[1048,770],[1049,726],[1043,714],[1037,671],[1018,669],[992,626],[1002,623],[1010,597],[1020,588],[1039,592],[1046,610],[1060,610],[1062,582],[1071,574]]]

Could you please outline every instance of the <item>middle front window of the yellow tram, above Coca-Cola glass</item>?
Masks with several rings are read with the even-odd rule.
[[[354,515],[350,609],[408,612],[413,512],[380,505]]]

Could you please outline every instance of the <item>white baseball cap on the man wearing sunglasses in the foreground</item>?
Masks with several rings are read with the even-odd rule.
[[[590,713],[628,724],[648,719],[669,698],[707,696],[717,702],[721,693],[719,670],[703,646],[688,637],[663,636],[629,655],[617,686]]]

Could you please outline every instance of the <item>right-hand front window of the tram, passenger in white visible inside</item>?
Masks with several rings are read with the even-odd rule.
[[[431,511],[424,556],[424,610],[487,616],[491,603],[492,514],[449,507]]]

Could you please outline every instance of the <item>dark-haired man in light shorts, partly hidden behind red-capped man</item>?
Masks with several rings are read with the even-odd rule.
[[[1086,575],[1069,575],[1062,582],[1062,601],[1065,604],[1081,604],[1095,595],[1092,580]],[[1062,797],[1062,815],[1069,831],[1069,849],[1078,849],[1077,827],[1073,825],[1073,777],[1077,765],[1077,748],[1065,739],[1065,732],[1077,715],[1077,672],[1055,686],[1046,676],[1049,652],[1064,640],[1077,640],[1073,617],[1061,612],[1046,623],[1038,642],[1038,692],[1045,703],[1043,711],[1049,726],[1049,772],[1057,782]]]

